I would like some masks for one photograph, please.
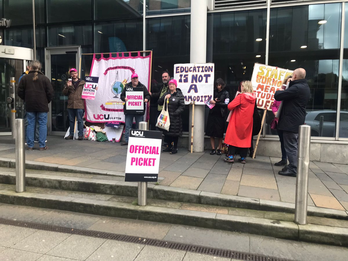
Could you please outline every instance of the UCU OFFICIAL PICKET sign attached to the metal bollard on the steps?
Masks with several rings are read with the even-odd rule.
[[[130,129],[125,181],[157,182],[162,132]]]

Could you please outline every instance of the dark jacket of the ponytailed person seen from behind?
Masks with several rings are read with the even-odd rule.
[[[33,81],[35,71],[24,75],[18,85],[18,96],[25,102],[26,111],[48,112],[48,104],[53,97],[51,81],[38,71],[38,79]]]

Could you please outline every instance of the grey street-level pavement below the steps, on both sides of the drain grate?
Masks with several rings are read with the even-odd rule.
[[[33,213],[36,213],[34,215]],[[49,215],[51,214],[51,215]],[[29,216],[30,219],[26,220]],[[61,220],[60,217],[65,219]],[[0,218],[260,254],[287,260],[347,260],[348,248],[106,216],[0,204]],[[60,222],[58,222],[60,220]],[[79,220],[79,223],[76,222]],[[75,225],[75,226],[73,226]],[[117,240],[71,235],[0,223],[0,261],[221,260],[231,259]],[[234,260],[234,259],[232,259]]]

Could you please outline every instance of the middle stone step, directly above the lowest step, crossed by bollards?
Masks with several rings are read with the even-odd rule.
[[[8,170],[10,171],[0,171],[1,184],[15,184],[16,174],[13,169]],[[137,197],[137,182],[123,180],[124,177],[120,176],[30,170],[26,172],[25,177],[26,185],[32,187]],[[176,188],[156,183],[148,184],[148,198],[283,213],[294,213],[295,209],[293,203]],[[314,206],[308,206],[308,215],[348,220],[346,211]]]

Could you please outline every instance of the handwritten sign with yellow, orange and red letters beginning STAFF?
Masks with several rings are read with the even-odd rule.
[[[251,83],[256,93],[259,109],[269,109],[274,102],[274,93],[282,88],[283,80],[293,71],[255,63]]]

